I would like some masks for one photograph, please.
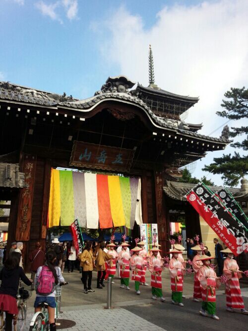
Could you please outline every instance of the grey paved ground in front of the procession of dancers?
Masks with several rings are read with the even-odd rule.
[[[147,282],[150,282],[147,273]],[[114,309],[106,310],[107,287],[102,290],[95,289],[95,293],[83,293],[83,286],[78,271],[72,274],[64,273],[64,278],[69,285],[62,287],[62,311],[61,319],[69,319],[76,322],[70,331],[227,331],[248,330],[248,316],[238,313],[228,313],[225,310],[224,287],[218,291],[217,315],[220,321],[204,318],[198,314],[200,303],[192,302],[193,277],[186,275],[184,284],[185,307],[174,306],[170,302],[170,280],[168,271],[163,272],[163,294],[165,303],[151,300],[151,288],[141,286],[141,295],[134,291],[134,282],[130,281],[130,291],[120,288],[120,280],[115,279],[112,288],[112,306]],[[96,273],[93,272],[92,287],[96,287]],[[248,307],[248,288],[242,289],[246,307]],[[33,314],[33,302],[35,295],[28,301],[29,314],[27,320],[31,320]],[[120,322],[121,321],[121,322]],[[112,322],[112,327],[110,327]],[[238,326],[237,326],[238,322]],[[28,323],[27,328],[28,329]]]

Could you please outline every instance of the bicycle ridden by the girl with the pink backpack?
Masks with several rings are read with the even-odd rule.
[[[56,296],[55,296],[55,302],[56,302],[56,308],[55,308],[55,323],[56,320],[59,318],[60,313],[60,304],[61,304],[61,286],[67,285],[68,282],[60,283],[56,286]],[[42,308],[41,312],[37,312],[34,314],[30,325],[29,325],[29,331],[43,331],[43,330],[50,330],[49,327],[49,316],[48,316],[48,304],[46,302],[43,302],[39,304],[39,307]]]

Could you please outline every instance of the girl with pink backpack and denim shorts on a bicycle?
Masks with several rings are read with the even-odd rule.
[[[56,285],[64,283],[61,268],[55,266],[57,255],[53,250],[46,253],[46,263],[40,266],[35,277],[36,299],[34,302],[35,313],[41,311],[41,303],[48,304],[50,331],[56,331],[55,324],[55,294]]]

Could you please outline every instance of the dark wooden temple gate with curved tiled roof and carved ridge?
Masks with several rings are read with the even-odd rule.
[[[109,78],[93,97],[78,100],[65,93],[0,83],[0,163],[19,164],[25,175],[25,185],[0,188],[0,199],[14,191],[8,248],[13,240],[24,242],[26,267],[35,242],[40,241],[43,248],[46,245],[51,168],[76,167],[71,162],[75,141],[129,151],[129,166],[121,173],[141,178],[143,223],[157,223],[163,253],[169,248],[169,207],[163,194],[168,172],[178,173],[180,166],[203,157],[206,151],[223,149],[228,140],[202,136],[196,133],[200,125],[180,120],[198,98],[164,91],[154,83],[130,90],[133,86],[124,76]],[[167,108],[163,113],[161,102],[170,104],[170,109],[174,106],[173,116]],[[160,116],[152,108],[155,104],[160,105]],[[120,173],[118,168],[94,164],[81,169]]]

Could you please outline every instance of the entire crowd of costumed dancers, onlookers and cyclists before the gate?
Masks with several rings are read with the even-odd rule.
[[[50,330],[56,330],[55,324],[55,286],[64,282],[62,273],[65,268],[71,273],[74,268],[81,270],[81,281],[84,293],[95,292],[92,288],[92,271],[97,270],[97,289],[105,287],[104,280],[114,276],[121,279],[120,288],[130,290],[129,280],[134,281],[137,295],[140,295],[140,286],[149,286],[146,282],[147,269],[151,275],[151,294],[153,300],[165,301],[162,292],[162,271],[165,267],[169,269],[171,278],[172,304],[184,307],[183,286],[184,275],[186,273],[186,261],[182,256],[185,249],[180,243],[173,243],[173,248],[168,251],[169,257],[162,258],[158,244],[148,251],[145,249],[146,243],[135,240],[136,246],[129,249],[129,244],[123,241],[118,246],[116,243],[86,242],[82,252],[77,252],[73,242],[60,243],[56,238],[51,245],[47,245],[46,253],[42,250],[40,243],[36,243],[35,249],[29,254],[31,278],[28,279],[23,271],[22,243],[13,242],[4,261],[4,266],[0,271],[0,310],[5,312],[5,331],[12,330],[13,315],[17,314],[16,295],[18,292],[19,280],[26,285],[31,285],[36,289],[36,299],[34,303],[35,312],[41,310],[41,304],[48,304]],[[218,263],[218,276],[210,265],[211,257],[208,248],[187,240],[188,257],[192,260],[191,267],[194,272],[193,301],[202,301],[199,313],[219,320],[216,316],[216,288],[220,284],[220,275],[226,277],[226,306],[227,311],[234,312],[240,309],[243,314],[248,314],[245,310],[241,295],[239,279],[242,271],[239,270],[234,254],[229,248],[223,249],[215,242],[215,254]],[[224,260],[224,255],[226,256]],[[44,277],[45,276],[45,277]],[[44,283],[43,279],[48,279],[50,283]]]

